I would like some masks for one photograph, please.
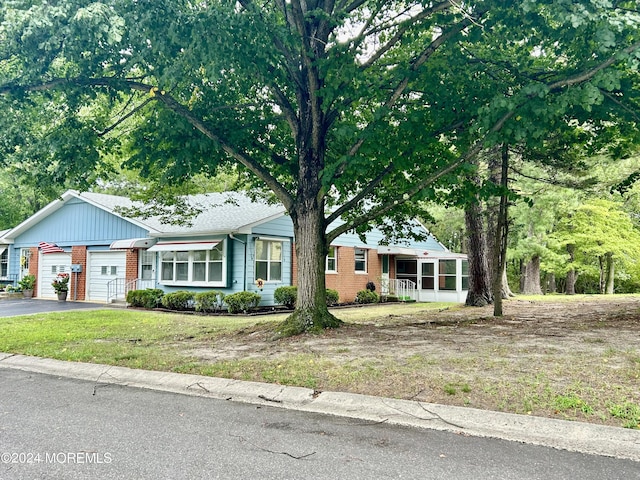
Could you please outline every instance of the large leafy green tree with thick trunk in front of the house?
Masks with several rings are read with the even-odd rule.
[[[609,0],[7,0],[0,162],[88,188],[110,152],[173,193],[235,163],[293,220],[290,331],[334,326],[338,235],[464,195],[492,144],[628,128],[639,24]]]

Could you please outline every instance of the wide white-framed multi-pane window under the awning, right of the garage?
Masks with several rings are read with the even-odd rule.
[[[150,279],[153,275],[153,261],[151,258],[143,261],[147,263],[143,264],[142,274]],[[163,251],[160,261],[162,283],[225,286],[222,243],[211,250]]]

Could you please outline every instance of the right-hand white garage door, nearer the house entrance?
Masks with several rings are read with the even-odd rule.
[[[87,264],[87,300],[106,302],[109,282],[112,294],[116,284],[124,287],[126,252],[88,252]],[[121,292],[118,298],[123,296]]]

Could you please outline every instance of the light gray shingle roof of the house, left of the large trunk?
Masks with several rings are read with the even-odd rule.
[[[140,206],[127,197],[102,193],[83,192],[79,197],[101,206],[117,215],[118,208]],[[277,218],[285,213],[282,205],[270,205],[253,201],[240,192],[208,193],[188,197],[190,205],[201,212],[191,220],[191,225],[162,223],[160,217],[133,218],[139,225],[160,234],[220,234],[238,232],[243,228]],[[121,215],[124,217],[124,215]],[[127,218],[127,217],[124,217]]]

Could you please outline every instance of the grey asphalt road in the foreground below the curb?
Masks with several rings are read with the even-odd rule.
[[[108,375],[0,368],[0,478],[640,478],[631,460],[103,383]]]

